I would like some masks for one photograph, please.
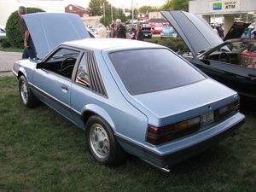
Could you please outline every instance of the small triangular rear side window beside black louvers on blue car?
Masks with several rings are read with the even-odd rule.
[[[85,87],[90,87],[90,79],[89,79],[89,72],[86,62],[86,55],[82,56],[82,59],[79,63],[78,71],[76,74],[75,82],[78,84],[82,84]]]

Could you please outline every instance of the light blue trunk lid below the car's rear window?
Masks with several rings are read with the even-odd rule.
[[[218,91],[217,91],[218,90]],[[165,126],[209,113],[230,102],[234,90],[212,79],[201,80],[171,90],[133,96],[151,117],[149,124]],[[219,102],[221,101],[221,102]]]

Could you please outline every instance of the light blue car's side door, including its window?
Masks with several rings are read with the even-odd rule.
[[[43,61],[43,67],[35,69],[33,73],[33,86],[36,94],[49,107],[54,108],[68,119],[71,119],[72,73],[79,54],[80,52],[75,49],[57,49],[46,61]]]

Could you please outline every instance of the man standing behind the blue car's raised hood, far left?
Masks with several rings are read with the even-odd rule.
[[[30,33],[27,29],[26,22],[23,19],[23,15],[26,14],[26,8],[23,6],[20,6],[18,9],[18,15],[20,16],[20,31],[22,38],[24,40],[24,50],[22,54],[22,59],[30,58],[34,59],[37,57],[36,49],[34,47],[34,44],[32,42],[32,38],[30,36]]]

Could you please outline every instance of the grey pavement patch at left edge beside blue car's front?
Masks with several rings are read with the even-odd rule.
[[[11,75],[15,61],[21,58],[20,52],[0,51],[0,76]]]

